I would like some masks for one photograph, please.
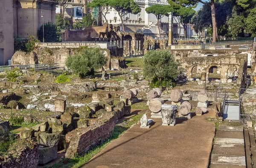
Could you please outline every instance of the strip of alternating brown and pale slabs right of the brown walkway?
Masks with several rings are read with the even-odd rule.
[[[219,126],[211,168],[246,168],[243,127]]]

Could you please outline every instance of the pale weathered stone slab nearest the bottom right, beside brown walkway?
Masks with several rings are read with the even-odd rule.
[[[212,154],[211,168],[213,168],[214,164],[246,166],[245,156],[228,156],[228,155]],[[230,166],[228,168],[233,168],[233,166]]]

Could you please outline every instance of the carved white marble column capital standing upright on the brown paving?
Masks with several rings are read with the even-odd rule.
[[[171,104],[163,104],[161,106],[162,125],[176,125],[177,106]]]

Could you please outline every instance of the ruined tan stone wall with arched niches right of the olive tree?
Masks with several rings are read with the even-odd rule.
[[[188,78],[193,75],[206,73],[206,79],[218,78],[227,83],[229,78],[237,80],[237,86],[243,86],[247,75],[247,55],[220,55],[217,57],[185,57],[181,60],[181,67],[186,70]]]

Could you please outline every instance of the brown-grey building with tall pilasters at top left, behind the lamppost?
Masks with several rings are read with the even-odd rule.
[[[55,6],[57,4],[53,0],[13,0],[15,37],[27,38],[29,35],[37,37],[37,31],[43,24],[41,12],[44,15],[44,23],[55,23]]]

